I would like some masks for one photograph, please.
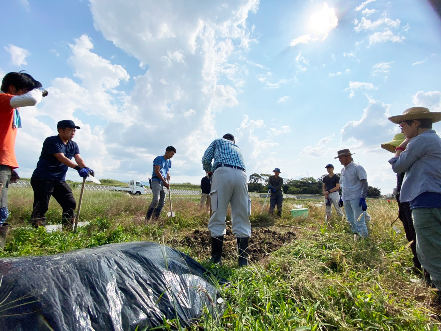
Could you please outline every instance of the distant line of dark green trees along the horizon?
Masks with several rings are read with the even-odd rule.
[[[340,176],[340,173],[337,173]],[[248,191],[250,192],[268,192],[268,177],[267,173],[253,173],[249,177]],[[285,194],[323,194],[322,184],[323,175],[317,179],[314,177],[303,177],[300,179],[284,178],[282,189]],[[341,193],[341,191],[340,191]],[[369,186],[367,192],[368,196],[381,196],[380,189]]]

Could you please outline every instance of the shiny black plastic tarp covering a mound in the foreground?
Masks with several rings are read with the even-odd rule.
[[[142,330],[164,316],[188,326],[223,307],[206,269],[153,242],[0,259],[0,274],[0,330]]]

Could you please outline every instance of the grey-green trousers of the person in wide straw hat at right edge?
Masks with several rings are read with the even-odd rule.
[[[412,209],[412,218],[418,259],[441,291],[441,208]]]

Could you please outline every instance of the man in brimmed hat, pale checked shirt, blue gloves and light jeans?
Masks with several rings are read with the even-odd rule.
[[[354,153],[355,154],[355,153]],[[341,169],[340,187],[341,197],[339,207],[343,207],[351,231],[360,237],[367,237],[365,220],[367,184],[366,170],[351,160],[350,150],[344,149],[337,152],[337,157],[344,168]]]

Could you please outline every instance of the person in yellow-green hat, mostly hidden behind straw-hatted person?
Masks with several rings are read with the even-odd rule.
[[[396,147],[400,146],[400,143],[402,143],[405,138],[406,137],[403,133],[397,133],[391,141],[381,144],[381,148],[395,154]],[[411,250],[413,254],[412,260],[414,265],[406,268],[406,270],[411,271],[416,275],[420,275],[422,273],[422,267],[416,253],[416,234],[413,226],[412,211],[408,202],[400,201],[400,190],[401,185],[403,184],[404,174],[404,172],[396,174],[396,202],[398,203],[398,218],[400,218],[400,221],[403,223],[404,233],[406,233],[407,240],[411,242]],[[430,275],[426,270],[424,271],[424,278],[430,279]]]

